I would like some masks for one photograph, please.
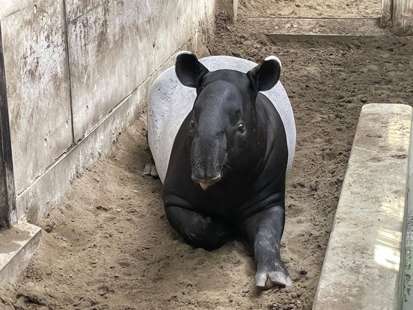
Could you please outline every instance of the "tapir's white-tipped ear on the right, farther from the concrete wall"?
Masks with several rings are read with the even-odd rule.
[[[255,92],[271,90],[277,84],[280,74],[281,61],[275,56],[268,56],[260,65],[246,72]]]

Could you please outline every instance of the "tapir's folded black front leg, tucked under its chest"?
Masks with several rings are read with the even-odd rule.
[[[169,224],[193,247],[216,249],[233,238],[228,223],[182,207],[165,207]]]

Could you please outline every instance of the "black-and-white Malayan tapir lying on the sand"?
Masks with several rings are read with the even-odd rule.
[[[281,63],[180,52],[153,83],[148,142],[170,225],[193,247],[242,235],[257,287],[292,285],[280,256],[295,122]]]

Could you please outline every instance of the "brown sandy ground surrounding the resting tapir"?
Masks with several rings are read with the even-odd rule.
[[[43,248],[0,309],[310,309],[361,106],[412,103],[413,41],[273,42],[260,23],[218,17],[211,54],[253,61],[274,54],[297,123],[282,258],[287,289],[257,291],[255,266],[235,240],[192,249],[169,227],[159,180],[144,178],[145,116],[115,155],[74,182],[41,223]]]

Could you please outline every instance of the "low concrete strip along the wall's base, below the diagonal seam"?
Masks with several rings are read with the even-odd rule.
[[[31,187],[17,196],[17,209],[26,208],[27,216],[32,223],[38,223],[41,218],[65,197],[74,180],[91,167],[100,156],[110,154],[110,149],[118,140],[127,124],[136,118],[143,110],[149,92],[149,87],[162,70],[168,68],[173,61],[171,57],[161,68],[154,72],[151,79],[121,102],[99,124],[89,132],[78,147],[70,149],[61,156],[41,178]]]

